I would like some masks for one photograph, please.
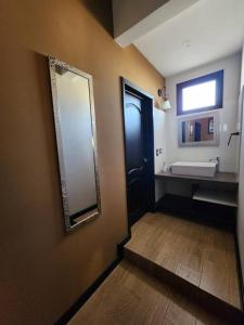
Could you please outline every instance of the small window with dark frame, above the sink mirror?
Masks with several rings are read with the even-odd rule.
[[[223,70],[177,84],[177,115],[222,108]]]

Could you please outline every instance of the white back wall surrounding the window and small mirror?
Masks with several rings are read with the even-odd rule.
[[[223,108],[220,114],[220,145],[213,147],[178,147],[177,120],[176,116],[176,86],[203,75],[207,75],[220,69],[224,69],[223,80]],[[172,109],[166,114],[167,133],[167,165],[177,160],[207,161],[214,157],[220,157],[221,171],[237,171],[239,141],[232,138],[230,146],[227,145],[230,132],[236,131],[239,112],[239,92],[241,75],[241,54],[234,54],[218,62],[207,64],[192,70],[166,78],[167,92],[172,105]],[[222,131],[222,126],[227,125],[227,132]]]

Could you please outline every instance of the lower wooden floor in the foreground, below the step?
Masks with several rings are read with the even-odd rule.
[[[124,260],[68,324],[224,325],[228,323],[216,318],[193,301]]]

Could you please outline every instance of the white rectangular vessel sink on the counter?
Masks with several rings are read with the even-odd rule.
[[[217,161],[210,161],[210,162],[177,161],[170,166],[171,173],[205,177],[205,178],[214,178],[216,173],[216,167],[217,167]]]

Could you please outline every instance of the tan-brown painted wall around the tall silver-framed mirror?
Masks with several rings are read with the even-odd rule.
[[[164,80],[134,48],[113,41],[100,23],[105,15],[97,10],[101,20],[94,18],[87,2],[0,4],[0,324],[53,324],[115,259],[127,234],[119,77],[155,96]],[[94,81],[103,216],[68,235],[47,58],[37,53]]]

